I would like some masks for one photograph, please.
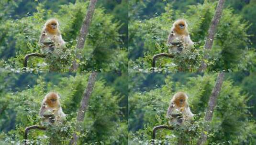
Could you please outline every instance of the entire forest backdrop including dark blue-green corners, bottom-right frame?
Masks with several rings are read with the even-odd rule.
[[[207,143],[204,145],[254,145],[256,144],[255,92],[248,82],[255,73],[226,73],[210,122]],[[198,145],[209,98],[217,74],[214,73],[134,73],[130,76],[129,143],[131,145]],[[251,89],[250,89],[251,88]],[[250,90],[250,91],[249,91]],[[190,124],[175,129],[157,130],[152,140],[153,128],[167,125],[167,108],[177,92],[188,94],[189,107],[194,114]]]

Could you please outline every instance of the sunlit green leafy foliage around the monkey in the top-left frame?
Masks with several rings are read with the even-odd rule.
[[[1,60],[0,64],[4,72],[21,72],[24,56],[31,52],[40,52],[40,32],[45,20],[52,17],[59,20],[60,31],[67,41],[67,46],[57,56],[50,56],[50,60],[30,59],[28,70],[48,72],[50,68],[51,72],[67,72],[71,66],[70,62],[75,59],[76,39],[88,4],[89,1],[77,0],[74,4],[61,5],[58,11],[53,12],[44,9],[44,3],[39,3],[33,15],[28,14],[16,20],[5,18],[1,21],[0,56],[4,60]],[[82,56],[79,72],[127,70],[127,49],[123,47],[122,34],[119,33],[123,24],[105,11],[103,7],[95,10],[84,49],[78,52]]]

